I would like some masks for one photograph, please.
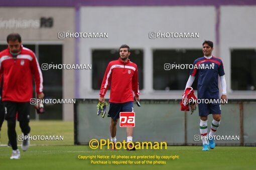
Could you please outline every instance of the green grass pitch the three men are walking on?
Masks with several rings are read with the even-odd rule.
[[[201,146],[168,146],[163,150],[123,149],[110,151],[106,147],[102,150],[92,150],[89,146],[73,145],[73,122],[64,121],[32,121],[31,134],[36,135],[64,135],[63,141],[31,141],[32,146],[26,152],[21,150],[21,159],[11,160],[11,147],[3,146],[7,143],[6,122],[1,131],[2,146],[0,147],[1,169],[255,169],[254,159],[256,147],[216,146],[207,152],[201,151]],[[17,134],[20,129],[17,127]],[[20,144],[20,143],[18,143]],[[43,145],[46,144],[46,145]],[[165,164],[91,164],[90,159],[79,159],[78,155],[179,155],[179,159],[169,159]],[[109,161],[125,161],[127,159],[93,159]],[[156,159],[134,159],[142,161]]]

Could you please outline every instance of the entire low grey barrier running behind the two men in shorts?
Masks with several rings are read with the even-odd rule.
[[[80,100],[77,103],[77,122],[75,123],[77,143],[87,144],[93,138],[110,138],[110,118],[97,116],[96,104],[96,99]],[[217,145],[240,145],[242,137],[245,145],[256,145],[254,132],[256,117],[253,112],[256,104],[254,102],[243,104],[244,136],[240,135],[239,102],[230,100],[228,104],[221,105],[221,123],[215,135],[239,136],[239,139],[221,139],[216,141]],[[200,135],[198,109],[192,115],[188,111],[185,115],[184,111],[180,111],[178,100],[142,100],[141,105],[141,107],[134,105],[136,112],[134,141],[166,141],[170,145],[201,145],[201,141],[194,141],[194,135]],[[209,115],[208,133],[212,119]],[[118,141],[126,140],[126,129],[119,127],[119,121],[116,137]]]

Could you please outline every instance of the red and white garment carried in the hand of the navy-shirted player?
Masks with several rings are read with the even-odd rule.
[[[196,101],[197,98],[194,94],[194,90],[192,87],[187,87],[184,91],[184,94],[182,95],[182,100],[180,101],[181,105],[181,111],[189,111],[189,99],[193,99],[193,101]]]

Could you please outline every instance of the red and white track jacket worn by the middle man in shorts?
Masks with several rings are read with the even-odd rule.
[[[138,83],[137,64],[128,59],[127,62],[121,59],[110,61],[107,65],[105,75],[101,84],[100,93],[104,97],[111,83],[109,102],[123,103],[134,101],[134,95],[140,95]]]

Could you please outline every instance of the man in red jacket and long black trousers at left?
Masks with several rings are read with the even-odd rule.
[[[8,48],[0,52],[0,74],[3,74],[2,101],[5,106],[5,119],[8,124],[8,137],[13,153],[11,159],[19,159],[17,147],[16,112],[22,129],[24,140],[22,149],[29,147],[30,99],[33,97],[33,76],[37,97],[42,99],[43,76],[35,53],[22,46],[21,36],[11,33],[7,36]],[[1,82],[1,80],[0,80]]]

